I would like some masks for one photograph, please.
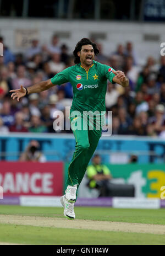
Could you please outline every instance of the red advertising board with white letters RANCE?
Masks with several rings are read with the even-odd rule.
[[[0,162],[0,186],[4,196],[60,196],[63,163]]]

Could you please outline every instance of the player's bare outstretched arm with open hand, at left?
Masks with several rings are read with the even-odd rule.
[[[33,86],[27,87],[26,88],[27,94],[40,93],[43,90],[48,90],[53,86],[54,86],[54,84],[51,82],[51,79],[48,79],[47,81],[36,83]],[[13,99],[17,98],[17,100],[19,102],[19,99],[26,95],[26,89],[23,86],[21,86],[20,89],[10,90],[9,92],[12,93],[11,98],[13,98]]]

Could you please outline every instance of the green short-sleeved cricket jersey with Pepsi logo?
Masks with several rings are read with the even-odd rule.
[[[115,74],[113,68],[93,61],[88,71],[81,63],[68,67],[59,72],[51,79],[53,84],[70,82],[73,87],[73,103],[71,112],[83,111],[105,111],[105,95],[107,91],[107,79],[113,83]]]

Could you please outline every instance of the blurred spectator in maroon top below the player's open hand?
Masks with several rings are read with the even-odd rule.
[[[21,111],[15,114],[15,122],[9,127],[9,130],[12,132],[28,132],[24,126],[24,114]]]

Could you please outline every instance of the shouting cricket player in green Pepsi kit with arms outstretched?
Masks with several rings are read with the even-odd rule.
[[[73,130],[76,145],[72,161],[68,168],[67,189],[61,198],[64,207],[64,216],[75,218],[74,203],[78,187],[86,172],[87,164],[94,154],[101,137],[102,128],[100,116],[105,113],[105,95],[107,79],[111,83],[118,83],[123,87],[129,85],[129,79],[122,71],[115,71],[112,67],[103,65],[94,60],[98,54],[97,46],[87,38],[81,39],[73,52],[75,65],[57,73],[53,78],[17,90],[10,90],[11,97],[19,101],[21,97],[31,93],[40,93],[56,84],[70,82],[73,87],[73,103],[70,109],[70,125]],[[93,129],[86,113],[97,113],[93,118]],[[85,114],[84,114],[85,113]],[[98,121],[99,120],[99,121]],[[75,125],[75,123],[79,125]],[[84,124],[86,125],[84,128]],[[79,129],[75,129],[78,127]],[[86,129],[87,127],[87,129]]]

